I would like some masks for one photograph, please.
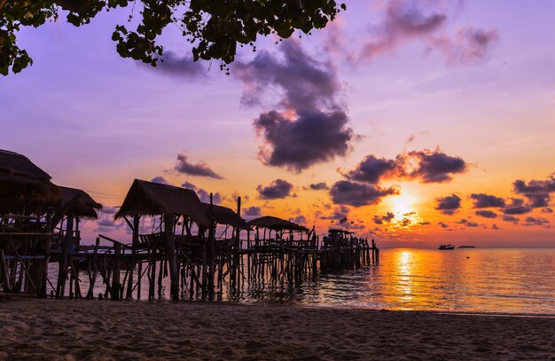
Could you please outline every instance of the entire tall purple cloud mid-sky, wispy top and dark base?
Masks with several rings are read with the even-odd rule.
[[[262,106],[264,96],[278,99],[273,110],[254,120],[262,138],[259,159],[301,172],[345,156],[355,135],[338,100],[341,85],[335,67],[314,59],[293,40],[284,42],[279,52],[281,59],[261,51],[251,62],[234,66],[233,74],[245,86],[243,105]]]

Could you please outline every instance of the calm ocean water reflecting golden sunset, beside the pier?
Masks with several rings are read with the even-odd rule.
[[[87,277],[83,275],[82,289]],[[164,279],[162,299],[169,280]],[[142,299],[147,298],[142,287]],[[101,281],[98,293],[104,291]],[[98,294],[97,293],[97,294]],[[187,295],[184,295],[185,299]],[[225,285],[219,300],[322,307],[555,315],[555,248],[382,249],[359,270],[319,272],[295,284]]]

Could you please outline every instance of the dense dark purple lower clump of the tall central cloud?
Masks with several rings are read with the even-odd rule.
[[[353,130],[347,127],[345,112],[301,111],[289,119],[271,111],[254,120],[264,139],[259,159],[265,165],[301,172],[318,162],[345,156]]]

